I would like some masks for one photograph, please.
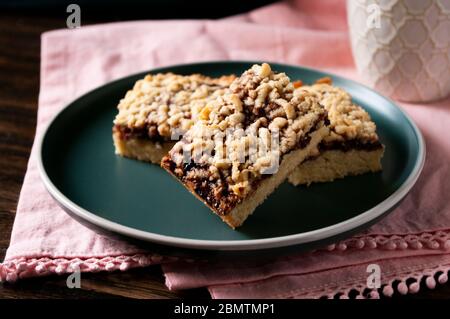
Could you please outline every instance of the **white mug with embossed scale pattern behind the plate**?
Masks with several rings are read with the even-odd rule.
[[[450,0],[347,0],[347,15],[369,85],[409,102],[450,94]]]

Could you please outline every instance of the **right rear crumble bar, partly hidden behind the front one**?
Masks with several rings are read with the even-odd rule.
[[[328,113],[330,134],[323,139],[319,152],[289,175],[289,181],[309,185],[380,171],[384,146],[369,114],[355,105],[347,92],[332,86],[331,79],[319,82],[297,90],[318,97]]]

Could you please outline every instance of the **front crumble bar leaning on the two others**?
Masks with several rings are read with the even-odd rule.
[[[175,144],[161,166],[235,228],[292,170],[317,152],[317,145],[328,135],[325,118],[318,99],[307,91],[294,92],[285,73],[274,73],[266,63],[254,65],[231,84],[229,92],[208,103],[200,121]],[[227,129],[242,129],[245,134],[223,143],[204,138],[205,132],[215,132],[217,137]],[[278,132],[278,143],[273,143],[278,148],[252,157],[252,132],[258,132],[266,145],[273,143],[270,136]],[[185,151],[197,146],[205,152],[186,160]],[[240,159],[239,150],[245,150]],[[267,174],[274,161],[278,169]]]

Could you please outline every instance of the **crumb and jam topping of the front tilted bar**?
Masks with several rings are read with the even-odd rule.
[[[274,73],[266,63],[254,65],[233,81],[229,92],[207,103],[200,120],[161,165],[216,211],[225,213],[230,202],[240,201],[254,189],[274,161],[304,147],[309,133],[321,125],[325,114],[317,97],[296,91],[285,73]],[[233,129],[233,138],[223,139],[228,129]],[[205,134],[214,138],[205,139]],[[278,134],[277,145],[273,145],[274,134]],[[249,147],[253,138],[269,151],[254,154]],[[186,163],[185,152],[196,154],[196,148],[203,152]]]

